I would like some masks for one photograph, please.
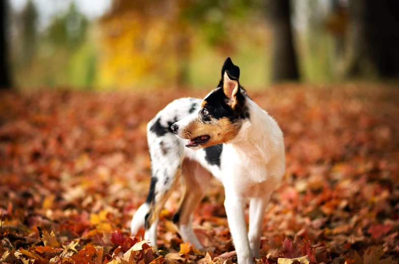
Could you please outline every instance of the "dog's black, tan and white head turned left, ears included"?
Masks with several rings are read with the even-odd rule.
[[[239,68],[227,58],[218,88],[204,98],[198,111],[171,126],[178,137],[188,140],[186,147],[228,143],[237,136],[242,123],[249,119],[249,97],[239,85],[239,75]]]

